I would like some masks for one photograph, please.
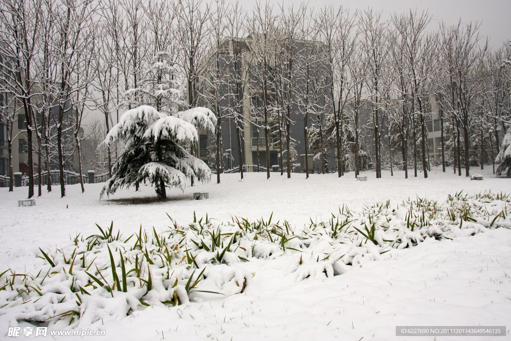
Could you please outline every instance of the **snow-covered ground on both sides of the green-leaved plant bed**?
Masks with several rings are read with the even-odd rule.
[[[416,195],[444,201],[461,190],[511,192],[509,179],[495,178],[488,171],[477,173],[484,175],[483,181],[458,177],[450,169],[447,173],[434,169],[428,179],[422,174],[404,179],[401,172],[393,177],[384,172],[383,179],[376,179],[374,172],[366,172],[362,174],[368,177],[366,182],[356,181],[352,173],[340,179],[336,174],[311,175],[308,180],[303,174],[287,179],[272,173],[266,180],[264,173],[248,173],[243,181],[239,174],[228,174],[222,175],[221,185],[212,182],[184,193],[169,191],[165,202],[157,201],[149,187],[99,200],[101,184],[86,185],[84,194],[79,186],[68,186],[64,199],[55,188],[29,208],[16,205],[26,197],[26,188],[14,193],[0,189],[0,272],[8,267],[30,272],[38,247],[60,247],[79,232],[96,233],[95,223],[107,226],[113,221],[129,236],[141,224],[147,230],[165,229],[170,224],[166,213],[187,224],[193,211],[219,220],[267,219],[273,212],[274,220],[286,219],[300,227],[309,218],[329,219],[342,204],[360,210],[366,203],[387,199],[400,203]],[[209,192],[210,199],[190,200],[195,191]],[[384,340],[395,338],[397,325],[511,327],[510,230],[453,241],[428,240],[409,249],[392,249],[382,257],[341,276],[301,282],[296,282],[285,257],[251,261],[243,263],[253,277],[242,294],[208,296],[176,308],[149,307],[91,328],[105,329],[107,337],[115,339]],[[0,316],[0,338],[5,322]]]

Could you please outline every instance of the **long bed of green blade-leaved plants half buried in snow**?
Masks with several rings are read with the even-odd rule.
[[[287,221],[272,222],[272,216],[220,222],[195,214],[188,224],[171,219],[161,232],[141,227],[128,237],[113,225],[98,226],[98,234],[40,248],[33,273],[0,269],[0,316],[11,326],[29,321],[83,328],[147,306],[257,290],[247,262],[264,262],[296,282],[322,280],[384,260],[382,254],[392,248],[495,228],[511,228],[508,194],[459,192],[443,203],[387,200],[361,212],[343,206],[330,220],[311,219],[296,230]]]

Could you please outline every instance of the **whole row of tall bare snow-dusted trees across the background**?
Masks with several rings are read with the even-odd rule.
[[[264,134],[267,177],[270,148],[278,150],[281,174],[290,177],[300,143],[323,173],[333,152],[338,176],[351,170],[357,176],[371,149],[377,177],[386,167],[391,174],[394,167],[404,170],[405,177],[413,167],[415,176],[422,170],[427,177],[428,130],[438,120],[444,170],[451,161],[468,176],[474,160],[493,164],[509,122],[510,50],[490,49],[478,23],[436,27],[429,13],[413,10],[384,19],[372,9],[270,2],[244,9],[224,0],[0,3],[0,93],[9,145],[16,138],[9,127],[12,132],[24,115],[28,167],[37,164],[41,176],[44,166],[50,174],[55,158],[61,196],[70,155],[77,155],[82,175],[85,113],[99,112],[106,134],[123,110],[147,98],[158,106],[165,67],[186,88],[183,106],[207,105],[217,115],[218,183],[226,121],[235,127],[243,177],[246,107],[257,127],[258,157],[259,128]],[[292,134],[298,120],[303,141]],[[117,149],[109,148],[111,175]],[[190,148],[199,153],[198,146]],[[308,177],[308,157],[305,162]],[[34,172],[28,176],[32,197]]]

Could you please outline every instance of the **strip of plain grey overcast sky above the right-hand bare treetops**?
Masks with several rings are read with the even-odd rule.
[[[255,0],[239,0],[245,9],[250,9]],[[284,6],[299,5],[301,0],[281,0]],[[405,12],[412,8],[428,10],[433,20],[445,21],[447,24],[462,22],[482,21],[481,35],[491,38],[490,46],[500,47],[502,42],[511,39],[511,0],[310,0],[310,6],[320,8],[334,5],[348,7],[350,9],[365,9],[372,7],[382,11],[384,17],[393,12]],[[437,27],[434,22],[435,28]]]

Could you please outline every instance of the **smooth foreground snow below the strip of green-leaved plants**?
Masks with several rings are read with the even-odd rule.
[[[293,274],[282,275],[287,263],[261,261],[251,264],[255,275],[242,294],[150,307],[94,327],[123,340],[260,341],[461,340],[396,337],[395,327],[507,325],[506,337],[469,339],[510,338],[511,231],[427,242],[383,256],[341,276],[298,283]]]

